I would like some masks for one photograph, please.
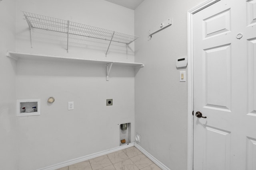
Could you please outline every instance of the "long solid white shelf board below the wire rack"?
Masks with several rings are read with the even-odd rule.
[[[119,61],[106,61],[106,60],[92,60],[92,59],[81,59],[81,58],[73,58],[73,57],[62,57],[62,56],[54,56],[54,55],[41,55],[41,54],[31,54],[31,53],[20,53],[8,51],[6,56],[14,59],[29,59],[29,60],[50,60],[50,61],[70,61],[70,62],[84,62],[84,63],[93,63],[93,64],[108,64],[113,63],[115,65],[126,65],[126,66],[138,66],[143,67],[143,63],[128,63],[128,62],[119,62]]]

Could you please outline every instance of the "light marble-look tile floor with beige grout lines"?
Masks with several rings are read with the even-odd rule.
[[[136,147],[119,150],[58,170],[161,170]]]

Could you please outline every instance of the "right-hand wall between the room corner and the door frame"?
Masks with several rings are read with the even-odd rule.
[[[202,0],[145,0],[135,10],[135,134],[138,143],[171,170],[187,168],[187,82],[179,82],[176,58],[187,56],[187,11]],[[170,27],[148,31],[172,17]]]

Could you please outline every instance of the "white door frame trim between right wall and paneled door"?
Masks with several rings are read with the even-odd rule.
[[[188,167],[187,170],[193,170],[193,146],[194,146],[194,119],[192,111],[194,110],[194,63],[193,63],[193,15],[204,8],[218,2],[220,0],[207,0],[202,4],[188,11]]]

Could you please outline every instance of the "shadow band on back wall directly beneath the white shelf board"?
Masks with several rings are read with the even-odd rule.
[[[18,60],[17,75],[106,77],[106,64],[90,64],[81,61]],[[134,77],[134,68],[113,64],[110,77]]]

